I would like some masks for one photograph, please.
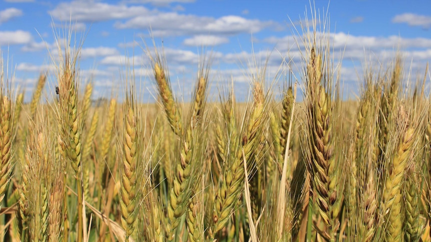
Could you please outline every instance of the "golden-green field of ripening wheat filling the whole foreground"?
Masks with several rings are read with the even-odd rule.
[[[399,53],[365,66],[358,100],[343,101],[315,27],[298,37],[300,80],[285,71],[277,93],[256,67],[241,103],[227,85],[208,99],[210,59],[179,102],[160,48],[148,51],[155,104],[125,66],[124,99],[95,105],[71,35],[52,101],[45,74],[23,103],[3,67],[0,241],[431,242],[428,66],[423,80]]]

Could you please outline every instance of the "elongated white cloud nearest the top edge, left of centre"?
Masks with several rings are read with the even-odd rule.
[[[98,1],[75,0],[62,2],[49,13],[61,21],[97,22],[147,15],[149,10],[143,6],[112,5]]]

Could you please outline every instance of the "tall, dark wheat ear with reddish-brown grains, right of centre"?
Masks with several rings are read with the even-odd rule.
[[[337,186],[339,177],[336,160],[333,155],[333,104],[330,94],[331,81],[324,72],[322,55],[315,53],[314,47],[309,53],[306,68],[307,86],[307,126],[309,150],[311,151],[311,174],[313,187],[317,192],[319,214],[328,228],[328,238],[335,239],[339,224],[336,218],[339,213]],[[323,83],[323,84],[321,84]]]

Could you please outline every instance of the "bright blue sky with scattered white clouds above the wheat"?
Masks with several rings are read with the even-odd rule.
[[[411,78],[423,78],[431,59],[431,1],[429,0],[315,0],[324,19],[330,17],[335,56],[344,50],[340,69],[344,98],[354,98],[364,60],[388,63],[399,45]],[[328,8],[329,7],[329,8]],[[81,36],[81,77],[94,83],[95,97],[121,96],[120,70],[134,55],[136,79],[143,80],[143,96],[151,96],[148,58],[143,42],[152,48],[163,40],[172,86],[187,99],[202,53],[212,53],[211,90],[233,81],[239,98],[246,96],[252,59],[268,61],[268,83],[283,57],[300,66],[295,43],[299,20],[310,18],[308,0],[1,0],[0,48],[9,59],[15,83],[25,88],[26,100],[42,71],[53,69],[48,50],[55,54],[53,31],[72,20]],[[293,24],[292,24],[293,23]],[[53,30],[53,27],[55,29]],[[202,47],[203,46],[203,47]],[[252,53],[254,49],[254,55]],[[3,67],[5,68],[5,67]],[[408,74],[408,73],[407,73]],[[295,75],[300,79],[299,75]],[[55,79],[49,78],[53,90]],[[276,87],[282,82],[276,82]],[[278,88],[276,88],[278,90]],[[182,96],[182,97],[181,97]]]

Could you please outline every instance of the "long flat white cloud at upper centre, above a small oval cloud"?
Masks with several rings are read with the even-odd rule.
[[[274,26],[272,21],[246,19],[228,15],[214,19],[208,16],[163,12],[157,14],[141,14],[125,22],[115,23],[117,28],[152,29],[154,36],[181,34],[237,34],[255,33],[264,27]]]

